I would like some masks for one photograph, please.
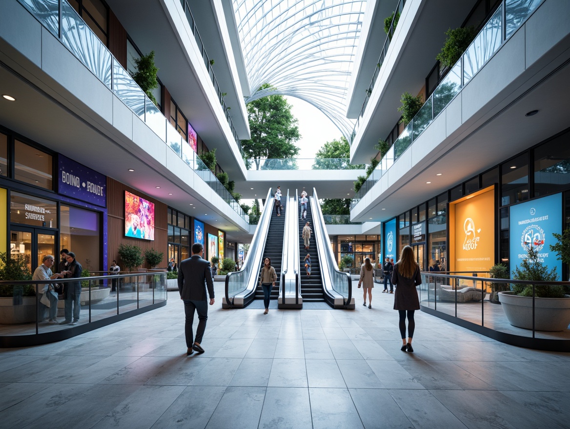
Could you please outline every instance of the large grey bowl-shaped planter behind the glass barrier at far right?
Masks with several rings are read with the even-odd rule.
[[[518,328],[532,329],[532,297],[499,292],[508,322]],[[535,330],[561,331],[570,324],[570,295],[565,298],[535,298]]]

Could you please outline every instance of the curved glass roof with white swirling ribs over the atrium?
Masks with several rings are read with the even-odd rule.
[[[323,112],[350,141],[346,117],[352,63],[366,0],[233,0],[253,93],[298,97]],[[273,88],[255,92],[264,83]]]

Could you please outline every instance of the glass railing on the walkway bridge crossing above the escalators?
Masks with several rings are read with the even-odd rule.
[[[250,158],[248,170],[364,170],[367,165],[352,165],[349,158]]]

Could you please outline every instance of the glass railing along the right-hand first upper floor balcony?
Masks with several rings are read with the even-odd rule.
[[[382,175],[388,171],[389,167],[396,161],[402,153],[406,151],[424,130],[433,122],[435,117],[443,111],[451,100],[465,87],[465,85],[475,76],[489,59],[499,50],[506,40],[503,34],[506,32],[507,38],[512,35],[516,28],[519,28],[524,21],[536,10],[544,0],[503,0],[495,13],[484,24],[483,28],[461,58],[451,67],[446,77],[439,83],[434,92],[426,100],[420,111],[410,121],[394,142],[373,174],[367,182],[356,193],[351,202],[351,209],[357,205],[360,199],[372,188]],[[506,21],[503,19],[503,10],[506,10]],[[515,25],[516,23],[516,25]],[[363,114],[363,112],[361,112]],[[354,134],[353,134],[354,135]]]

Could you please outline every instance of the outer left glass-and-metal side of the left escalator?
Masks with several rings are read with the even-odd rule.
[[[253,299],[263,261],[263,249],[271,222],[272,206],[273,193],[270,188],[267,191],[265,205],[263,206],[263,211],[242,269],[229,272],[226,275],[225,296],[222,301],[223,308],[243,308]]]

